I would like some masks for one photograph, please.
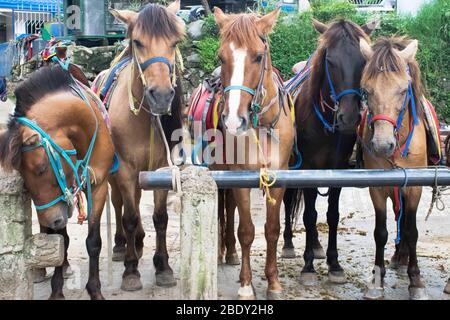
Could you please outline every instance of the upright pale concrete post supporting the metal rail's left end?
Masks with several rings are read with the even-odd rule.
[[[208,169],[181,172],[181,298],[217,299],[217,185]]]

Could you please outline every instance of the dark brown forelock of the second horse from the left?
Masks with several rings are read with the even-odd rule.
[[[137,21],[128,27],[128,37],[131,38],[134,28],[142,30],[149,37],[182,39],[185,35],[181,20],[168,12],[159,4],[149,3],[139,11]]]

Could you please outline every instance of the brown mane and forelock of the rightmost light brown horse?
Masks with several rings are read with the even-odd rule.
[[[406,70],[404,70],[404,62],[396,51],[405,49],[410,42],[411,39],[406,37],[382,37],[378,39],[372,47],[373,56],[364,69],[363,77],[365,79],[372,79],[378,76],[380,72],[406,72]],[[418,104],[425,93],[421,80],[420,68],[415,60],[408,63],[408,66],[411,84],[414,90],[414,97],[416,99],[416,104]]]

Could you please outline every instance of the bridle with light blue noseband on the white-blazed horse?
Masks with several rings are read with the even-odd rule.
[[[227,86],[223,89],[223,94],[222,94],[222,103],[225,99],[225,93],[233,91],[233,90],[238,90],[238,91],[243,91],[246,92],[248,94],[250,94],[251,96],[253,96],[252,102],[250,104],[250,119],[252,122],[252,127],[253,128],[257,128],[258,125],[260,124],[260,118],[263,114],[265,114],[267,111],[269,111],[269,109],[279,100],[281,101],[282,96],[284,96],[284,94],[280,95],[280,88],[278,88],[277,91],[277,95],[269,102],[268,105],[263,106],[263,101],[266,97],[266,89],[264,88],[264,78],[266,75],[267,70],[269,69],[269,59],[268,59],[268,52],[269,52],[269,46],[268,46],[268,42],[267,39],[264,37],[261,37],[262,42],[264,43],[264,54],[263,54],[263,58],[261,61],[262,67],[261,67],[261,72],[259,75],[259,81],[258,81],[258,86],[256,87],[256,89],[252,89],[249,88],[247,86],[244,85],[239,85],[239,86]],[[275,117],[275,119],[272,121],[272,123],[269,125],[269,130],[272,132],[274,129],[274,126],[276,125],[276,123],[278,122],[279,118],[280,118],[280,113],[281,113],[281,109],[282,109],[282,103],[280,104],[280,110],[277,114],[277,116]]]

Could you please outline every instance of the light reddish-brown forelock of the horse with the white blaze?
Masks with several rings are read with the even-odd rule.
[[[232,14],[220,31],[223,42],[234,42],[238,46],[253,47],[255,41],[263,37],[258,32],[256,21],[258,16],[252,14]]]

